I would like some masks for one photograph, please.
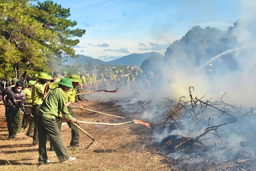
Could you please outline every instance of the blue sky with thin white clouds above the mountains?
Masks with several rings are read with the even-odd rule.
[[[86,30],[76,54],[104,61],[131,53],[164,54],[191,27],[227,30],[246,10],[242,0],[52,1],[70,8],[69,19]]]

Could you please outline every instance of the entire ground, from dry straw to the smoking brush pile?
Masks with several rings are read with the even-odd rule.
[[[25,136],[26,130],[16,139],[7,139],[7,128],[4,113],[0,115],[2,127],[0,142],[0,165],[5,170],[254,170],[256,155],[253,148],[237,147],[236,142],[249,141],[244,136],[251,136],[254,131],[250,124],[254,123],[254,109],[246,111],[237,105],[224,101],[210,102],[198,98],[185,101],[181,97],[178,102],[168,101],[159,110],[154,111],[153,101],[137,101],[134,97],[124,99],[124,104],[134,112],[121,108],[123,99],[112,99],[111,102],[82,102],[85,111],[74,108],[78,120],[88,122],[122,123],[130,121],[130,117],[138,117],[150,122],[149,129],[141,124],[119,126],[79,124],[95,141],[80,132],[80,147],[69,147],[71,131],[67,124],[62,126],[64,145],[72,157],[77,159],[69,163],[59,163],[54,151],[48,151],[50,165],[37,165],[37,147],[31,146],[32,139]],[[76,104],[79,105],[79,104]],[[143,110],[137,110],[137,108]],[[2,110],[3,111],[3,110]],[[123,118],[93,112],[100,111]],[[160,120],[140,118],[144,112],[154,113]],[[247,126],[241,127],[241,121]],[[240,128],[240,129],[237,129]],[[230,132],[233,130],[233,132]],[[236,130],[236,131],[234,131]],[[239,131],[237,131],[239,130]],[[243,137],[241,135],[244,135]],[[235,137],[235,139],[231,139]],[[240,138],[244,139],[240,139]],[[248,138],[247,137],[247,138]],[[47,144],[49,147],[49,144]],[[237,147],[237,148],[236,148]]]

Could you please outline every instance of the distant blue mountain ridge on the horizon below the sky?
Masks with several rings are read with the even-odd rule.
[[[93,62],[93,66],[99,66],[99,65],[110,65],[110,66],[116,66],[116,65],[122,65],[122,66],[129,66],[129,65],[133,65],[133,66],[140,66],[142,64],[142,62],[147,58],[150,57],[151,55],[157,55],[161,58],[163,58],[163,55],[161,55],[158,52],[147,52],[147,53],[143,53],[143,54],[130,54],[130,55],[126,55],[123,56],[121,58],[115,59],[115,60],[111,60],[108,62],[104,62],[102,60],[99,59],[95,59],[92,57],[88,57],[85,55],[80,55],[78,54],[77,58],[67,58],[67,62],[64,62],[63,65],[72,65],[72,64],[86,64],[87,61],[91,61]]]

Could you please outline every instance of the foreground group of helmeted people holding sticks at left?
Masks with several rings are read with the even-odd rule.
[[[29,81],[13,78],[12,85],[0,91],[0,103],[5,105],[8,138],[15,139],[22,127],[28,127],[26,135],[33,139],[32,145],[38,145],[39,165],[50,163],[47,139],[50,140],[50,150],[55,151],[60,162],[75,160],[75,157],[68,155],[60,130],[61,118],[65,117],[71,128],[70,146],[80,145],[78,128],[75,126],[77,117],[69,108],[75,101],[75,88],[82,82],[80,76],[73,74],[65,78],[55,72],[52,77],[40,72],[33,78]],[[21,112],[24,113],[23,117]]]

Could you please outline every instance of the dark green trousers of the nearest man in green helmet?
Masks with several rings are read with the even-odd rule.
[[[46,118],[38,116],[38,139],[39,139],[39,158],[38,162],[40,164],[47,162],[47,150],[46,150],[46,141],[47,135],[50,138],[50,141],[53,145],[55,153],[59,158],[60,162],[65,162],[69,159],[66,148],[64,147],[61,132],[59,131],[56,119]]]

